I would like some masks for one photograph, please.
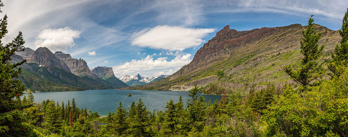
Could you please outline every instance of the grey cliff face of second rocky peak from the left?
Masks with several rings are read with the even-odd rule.
[[[69,67],[69,69],[71,70],[71,72],[77,76],[88,76],[91,77],[93,79],[97,79],[98,77],[93,74],[88,66],[87,63],[85,62],[85,60],[83,59],[74,59],[71,58],[70,54],[65,54],[62,52],[56,52],[54,53],[54,55],[59,58],[60,60],[64,61],[64,63]]]

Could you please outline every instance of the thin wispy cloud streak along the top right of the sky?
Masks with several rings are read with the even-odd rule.
[[[347,0],[217,0],[204,2],[204,5],[210,9],[209,12],[275,12],[296,15],[306,13],[342,19],[348,3]]]

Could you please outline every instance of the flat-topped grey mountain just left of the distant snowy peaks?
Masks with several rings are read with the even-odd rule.
[[[91,69],[90,71],[98,77],[102,78],[103,80],[109,82],[116,88],[128,86],[126,83],[122,82],[114,75],[112,68],[98,66],[96,68]]]

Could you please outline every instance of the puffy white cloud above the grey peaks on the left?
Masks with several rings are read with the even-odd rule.
[[[80,34],[80,31],[73,30],[70,27],[44,29],[37,36],[35,47],[46,47],[52,52],[67,52],[68,48],[76,45],[74,39],[80,38]]]

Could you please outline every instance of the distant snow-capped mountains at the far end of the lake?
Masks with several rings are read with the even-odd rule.
[[[124,75],[120,77],[119,79],[125,82],[127,85],[130,86],[136,86],[136,85],[145,85],[149,84],[151,82],[163,79],[169,75],[159,75],[159,76],[150,76],[150,77],[143,77],[140,74],[130,76],[130,75]]]

